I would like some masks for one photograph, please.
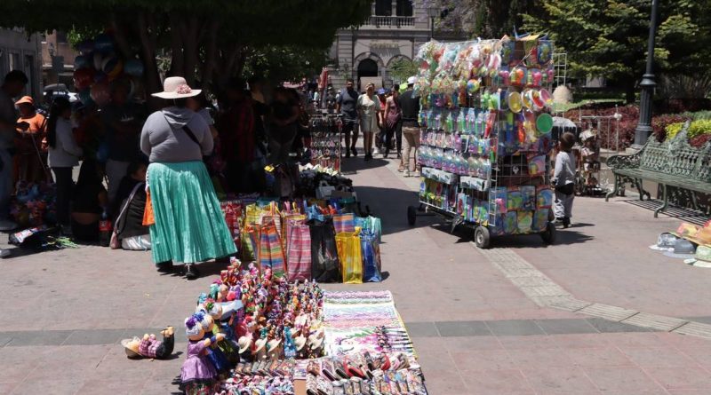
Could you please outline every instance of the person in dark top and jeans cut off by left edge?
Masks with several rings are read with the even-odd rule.
[[[28,76],[20,70],[5,75],[0,87],[0,231],[11,231],[17,224],[10,220],[10,195],[12,194],[12,150],[16,130],[28,130],[28,122],[17,122],[15,102],[25,89]],[[0,252],[0,255],[3,253]]]

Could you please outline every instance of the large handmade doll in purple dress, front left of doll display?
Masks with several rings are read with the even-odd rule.
[[[212,393],[217,390],[217,371],[208,360],[207,352],[223,335],[204,338],[204,328],[196,316],[185,320],[185,334],[189,342],[187,357],[180,367],[180,389],[187,395]]]

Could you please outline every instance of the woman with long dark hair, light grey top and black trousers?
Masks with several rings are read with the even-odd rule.
[[[83,151],[76,144],[72,131],[72,107],[67,98],[56,98],[52,101],[50,119],[47,121],[47,143],[49,153],[47,162],[54,173],[57,185],[57,224],[61,233],[71,235],[70,207],[74,181],[72,169],[79,164]]]

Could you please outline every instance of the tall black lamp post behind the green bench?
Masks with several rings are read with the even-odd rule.
[[[651,0],[651,25],[650,38],[647,43],[647,70],[642,76],[642,82],[639,86],[642,87],[639,103],[639,122],[635,128],[635,144],[633,148],[641,148],[651,135],[651,99],[654,95],[654,87],[657,83],[654,82],[653,66],[654,66],[654,39],[657,36],[657,6],[659,0]]]

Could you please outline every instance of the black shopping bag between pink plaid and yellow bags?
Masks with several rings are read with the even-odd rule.
[[[318,282],[340,280],[339,253],[332,219],[309,221],[311,234],[311,279]]]

